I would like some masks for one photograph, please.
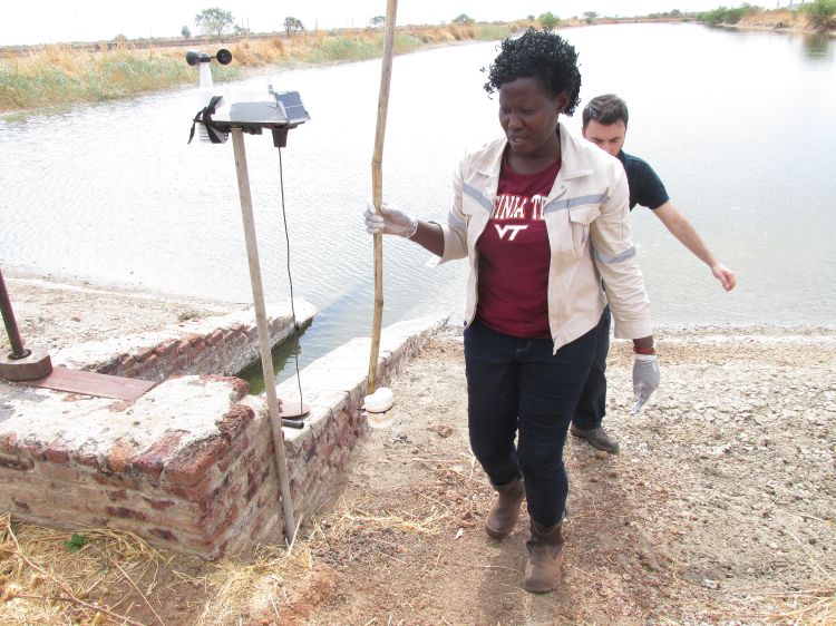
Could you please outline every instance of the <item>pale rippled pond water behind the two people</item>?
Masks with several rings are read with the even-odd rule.
[[[607,91],[628,101],[626,150],[653,165],[738,276],[738,288],[722,292],[659,219],[636,207],[654,320],[833,323],[836,41],[696,25],[563,35],[580,52],[582,106]],[[395,59],[383,155],[390,204],[445,218],[464,150],[500,133],[479,71],[496,46]],[[282,150],[290,263],[278,150],[269,135],[246,138],[265,297],[288,297],[290,264],[294,294],[321,311],[295,348],[300,365],[367,335],[371,325],[371,237],[360,216],[371,195],[379,80],[377,60],[232,85],[264,89],[272,81],[278,90],[299,90],[312,117]],[[0,120],[2,267],[251,302],[232,141],[186,145],[197,102],[189,87]],[[580,111],[565,121],[580,133]],[[386,241],[385,325],[460,314],[465,264],[429,267],[428,260],[418,246]]]

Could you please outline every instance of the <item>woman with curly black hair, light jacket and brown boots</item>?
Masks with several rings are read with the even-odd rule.
[[[607,300],[615,336],[633,340],[636,405],[659,384],[624,169],[558,120],[574,113],[580,88],[577,55],[558,35],[529,29],[503,41],[485,89],[498,91],[505,136],[465,156],[447,223],[392,207],[366,213],[370,233],[410,238],[441,262],[469,260],[470,446],[498,493],[485,530],[511,535],[527,501],[523,586],[533,593],[561,584],[563,446]]]

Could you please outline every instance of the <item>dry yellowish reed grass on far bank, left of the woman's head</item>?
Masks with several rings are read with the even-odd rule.
[[[406,27],[398,30],[395,52],[412,52],[426,45],[508,37],[513,25]],[[348,62],[378,58],[383,49],[380,29],[310,31],[293,37],[242,39],[227,46],[231,66],[213,63],[216,80],[229,80],[242,68],[270,65]],[[135,49],[124,38],[88,49],[55,45],[0,56],[0,111],[101,102],[136,94],[194,84],[195,68],[184,62],[183,48]]]

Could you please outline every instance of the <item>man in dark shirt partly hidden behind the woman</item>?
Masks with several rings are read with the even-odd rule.
[[[621,160],[630,185],[630,209],[647,206],[662,224],[709,266],[726,291],[735,288],[735,274],[704,244],[691,223],[673,205],[664,185],[644,160],[624,153],[622,146],[628,128],[628,108],[614,94],[597,96],[583,109],[583,136]],[[610,351],[610,315],[603,315],[597,327],[597,350],[592,371],[575,409],[571,432],[607,452],[619,451],[619,441],[601,426],[606,408],[606,354]]]

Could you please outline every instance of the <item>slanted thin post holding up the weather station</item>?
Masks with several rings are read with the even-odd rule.
[[[288,464],[284,457],[284,437],[282,434],[282,417],[279,410],[279,399],[275,394],[275,374],[273,372],[273,356],[270,350],[270,333],[268,316],[264,311],[264,290],[261,282],[261,265],[259,264],[259,244],[255,238],[255,221],[253,218],[253,203],[250,196],[250,174],[246,167],[246,151],[244,150],[244,131],[232,128],[232,147],[235,153],[235,173],[239,178],[239,195],[241,196],[241,216],[244,219],[244,238],[246,239],[246,258],[250,262],[250,282],[253,287],[253,305],[255,306],[255,322],[259,329],[259,346],[261,351],[261,366],[264,372],[264,388],[268,394],[268,413],[270,415],[270,433],[275,450],[275,469],[279,475],[279,490],[282,498],[282,513],[284,517],[284,532],[288,544],[293,542],[297,531],[293,519],[293,501],[288,480]]]

